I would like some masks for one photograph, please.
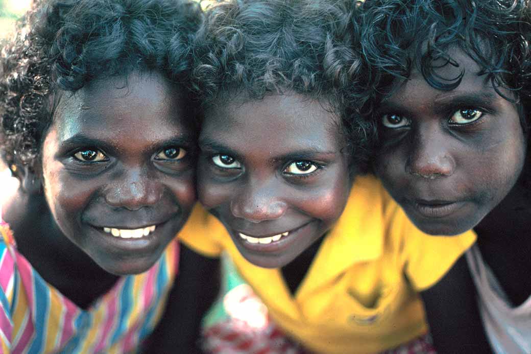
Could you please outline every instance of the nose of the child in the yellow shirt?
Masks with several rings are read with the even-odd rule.
[[[286,202],[278,194],[275,181],[251,181],[230,201],[230,210],[235,217],[252,223],[275,220],[287,209]]]

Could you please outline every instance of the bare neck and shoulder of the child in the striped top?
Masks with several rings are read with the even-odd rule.
[[[46,282],[78,306],[88,307],[116,283],[117,276],[99,267],[63,234],[42,194],[28,195],[19,189],[7,201],[4,218],[18,251]]]

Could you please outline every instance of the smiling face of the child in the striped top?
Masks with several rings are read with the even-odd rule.
[[[45,196],[76,246],[113,274],[149,269],[195,201],[195,132],[159,74],[64,92],[42,145]]]

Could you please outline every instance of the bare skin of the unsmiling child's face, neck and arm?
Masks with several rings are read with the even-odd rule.
[[[436,90],[414,71],[382,104],[376,171],[422,231],[455,235],[475,227],[485,262],[519,305],[531,293],[530,203],[517,183],[527,149],[520,109],[477,75],[470,57],[449,54],[459,68],[437,73],[456,77],[464,69],[456,89]],[[464,258],[421,295],[438,352],[490,351]]]

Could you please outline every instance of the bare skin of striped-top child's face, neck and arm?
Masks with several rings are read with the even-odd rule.
[[[121,275],[153,266],[195,204],[196,129],[184,97],[158,73],[96,80],[73,95],[63,92],[38,163],[16,169],[20,188],[3,212],[18,249],[81,308]],[[216,274],[217,262],[183,264],[195,262],[190,253],[184,250],[177,279]],[[218,277],[207,279],[217,289]],[[201,284],[187,285],[192,294],[178,284],[165,316],[189,325],[172,334],[158,330],[157,343],[193,351],[201,321],[195,310],[211,299],[200,296],[208,305],[186,308]]]

